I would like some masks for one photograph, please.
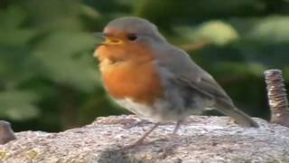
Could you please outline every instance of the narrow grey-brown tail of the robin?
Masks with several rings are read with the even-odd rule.
[[[236,120],[239,125],[244,127],[259,127],[255,120],[250,118],[242,110],[238,110],[232,103],[228,103],[227,101],[216,101],[216,104],[217,109],[220,112]]]

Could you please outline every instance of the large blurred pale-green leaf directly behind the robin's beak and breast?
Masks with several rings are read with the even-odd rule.
[[[45,39],[33,52],[40,62],[43,75],[81,91],[92,91],[99,84],[97,63],[92,48],[97,40],[92,34],[55,33]]]

